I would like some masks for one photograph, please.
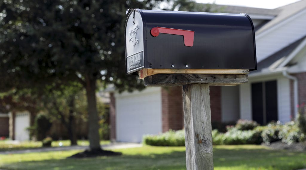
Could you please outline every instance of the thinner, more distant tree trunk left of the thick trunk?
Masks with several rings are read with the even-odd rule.
[[[68,133],[71,145],[77,145],[76,130],[75,130],[75,117],[74,113],[74,95],[70,96],[69,99],[69,118],[68,118]]]

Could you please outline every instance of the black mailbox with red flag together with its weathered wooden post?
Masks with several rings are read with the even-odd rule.
[[[209,86],[247,83],[256,70],[252,20],[244,13],[130,10],[126,73],[138,73],[145,86],[183,86],[187,170],[212,170]]]

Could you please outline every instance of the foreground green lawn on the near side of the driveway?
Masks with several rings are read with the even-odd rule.
[[[66,159],[79,151],[0,155],[8,170],[185,170],[185,147],[143,146],[115,150],[117,157]],[[306,153],[264,146],[214,146],[215,170],[295,170],[306,168]]]

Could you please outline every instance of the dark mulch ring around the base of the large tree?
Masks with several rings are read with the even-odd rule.
[[[101,156],[119,156],[121,152],[113,152],[108,150],[85,150],[84,152],[76,153],[67,158],[86,158],[86,157],[101,157]]]

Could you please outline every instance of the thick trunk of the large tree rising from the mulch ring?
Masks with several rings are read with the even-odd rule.
[[[86,96],[88,104],[88,138],[89,148],[93,150],[101,150],[100,137],[99,137],[99,123],[98,123],[98,111],[96,102],[96,79],[91,79],[90,76],[86,76]]]

